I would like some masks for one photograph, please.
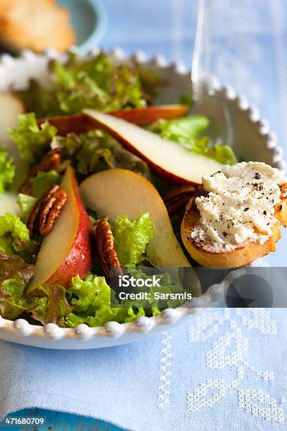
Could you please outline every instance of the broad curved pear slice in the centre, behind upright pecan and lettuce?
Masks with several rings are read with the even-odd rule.
[[[200,295],[198,277],[174,235],[167,208],[151,182],[132,170],[103,170],[84,180],[79,193],[87,208],[96,211],[100,217],[107,215],[111,222],[119,215],[134,220],[148,211],[155,225],[153,238],[146,249],[148,260],[155,267],[167,268],[174,280],[179,277],[193,295]],[[188,269],[177,269],[183,267]]]

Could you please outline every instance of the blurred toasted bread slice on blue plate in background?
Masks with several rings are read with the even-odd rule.
[[[75,43],[70,13],[52,0],[0,0],[0,43],[12,51],[64,51]]]

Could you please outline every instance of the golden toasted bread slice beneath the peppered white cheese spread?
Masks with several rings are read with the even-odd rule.
[[[181,223],[181,239],[191,258],[200,265],[210,268],[238,268],[249,265],[271,251],[275,251],[275,244],[281,238],[280,225],[287,227],[287,184],[280,187],[281,203],[274,207],[274,217],[278,222],[272,226],[272,235],[263,244],[260,244],[259,241],[245,242],[240,248],[219,253],[212,251],[208,244],[197,244],[191,238],[191,232],[200,219],[200,213],[193,197],[186,206],[186,213]],[[200,192],[204,193],[203,189],[200,189]]]

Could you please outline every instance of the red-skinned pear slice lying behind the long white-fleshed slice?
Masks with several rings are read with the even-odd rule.
[[[146,125],[154,123],[157,120],[170,120],[179,118],[189,111],[188,105],[162,105],[146,106],[145,108],[122,109],[121,111],[110,111],[113,117],[122,118],[137,125]],[[60,115],[57,117],[40,118],[37,120],[38,125],[49,122],[58,129],[59,135],[68,135],[68,133],[91,132],[97,128],[93,118],[84,113],[72,115]]]

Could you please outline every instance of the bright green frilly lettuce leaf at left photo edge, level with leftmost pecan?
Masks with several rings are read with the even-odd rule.
[[[18,215],[6,213],[0,215],[0,251],[14,254],[23,247],[23,242],[30,241],[29,230]]]

